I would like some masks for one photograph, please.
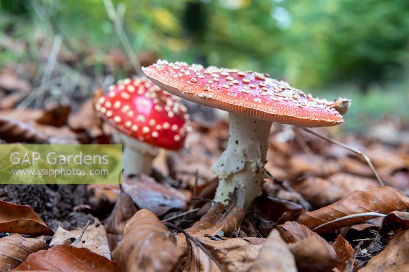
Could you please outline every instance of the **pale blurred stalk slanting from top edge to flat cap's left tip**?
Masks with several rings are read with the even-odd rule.
[[[106,13],[108,14],[109,19],[113,22],[113,26],[115,27],[115,31],[118,34],[119,39],[121,40],[122,46],[124,46],[126,55],[128,55],[129,61],[132,63],[133,69],[137,72],[138,76],[143,76],[144,73],[141,68],[141,64],[138,61],[137,55],[133,52],[133,48],[131,43],[129,42],[128,37],[125,34],[122,22],[113,8],[113,4],[111,0],[103,0]]]

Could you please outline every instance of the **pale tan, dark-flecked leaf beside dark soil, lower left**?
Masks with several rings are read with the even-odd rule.
[[[51,239],[50,245],[63,244],[66,240],[76,240],[82,231],[83,229],[80,228],[67,231],[58,227],[53,239]],[[76,248],[86,248],[94,253],[104,256],[108,260],[111,259],[111,252],[109,250],[105,228],[96,217],[94,218],[94,223],[86,228],[81,241],[74,246]]]

